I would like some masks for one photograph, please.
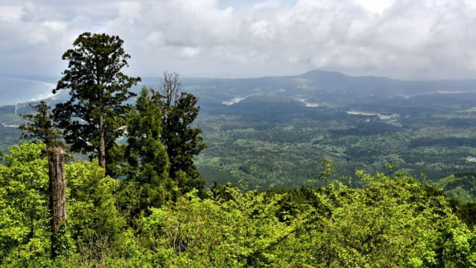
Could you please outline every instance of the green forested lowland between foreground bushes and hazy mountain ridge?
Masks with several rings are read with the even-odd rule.
[[[238,84],[223,86],[239,88]],[[247,94],[257,94],[252,88],[261,88],[259,94],[266,97],[248,97],[229,106],[221,104],[223,99],[246,96],[242,93],[246,87],[222,95],[212,87],[194,91],[201,97],[199,121],[208,144],[196,164],[208,186],[241,179],[261,189],[299,187],[316,175],[315,167],[324,158],[333,160],[335,177],[346,176],[354,186],[360,184],[356,169],[388,174],[388,163],[395,166],[392,173],[404,171],[417,177],[424,172],[429,182],[474,170],[476,113],[469,100],[475,94],[464,95],[468,99],[445,95],[448,99],[438,102],[435,95],[339,102],[336,97],[346,96],[326,98],[322,90],[308,90],[308,94],[319,92],[314,98],[322,105],[306,107],[283,96],[270,97],[261,86],[252,85]],[[461,105],[448,105],[453,97]],[[398,116],[388,119],[388,115]]]

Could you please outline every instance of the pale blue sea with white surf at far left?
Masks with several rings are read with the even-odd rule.
[[[0,106],[46,99],[55,87],[54,82],[0,77]]]

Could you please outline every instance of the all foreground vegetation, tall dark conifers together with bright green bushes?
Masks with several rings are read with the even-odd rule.
[[[122,43],[81,34],[53,90],[69,99],[32,105],[1,155],[2,267],[476,266],[475,203],[393,164],[356,180],[324,159],[299,187],[206,188],[197,97],[174,73],[132,93]]]

